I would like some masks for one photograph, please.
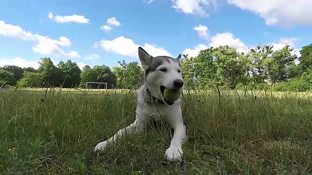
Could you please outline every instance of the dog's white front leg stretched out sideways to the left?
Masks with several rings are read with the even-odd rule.
[[[102,151],[109,144],[115,143],[125,134],[139,133],[143,129],[144,129],[144,123],[142,122],[142,120],[137,118],[134,123],[131,123],[129,126],[120,129],[113,137],[109,138],[108,140],[99,142],[97,146],[94,148],[94,151]]]

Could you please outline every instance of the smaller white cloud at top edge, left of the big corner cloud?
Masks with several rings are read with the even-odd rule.
[[[208,16],[203,7],[216,6],[217,0],[171,0],[175,9],[186,14],[195,14],[199,16]]]

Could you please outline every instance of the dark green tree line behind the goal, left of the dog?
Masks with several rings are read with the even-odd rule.
[[[138,62],[118,62],[112,69],[105,65],[91,68],[85,65],[82,70],[72,60],[60,61],[54,65],[49,57],[41,58],[39,68],[21,68],[6,65],[0,68],[0,87],[20,88],[86,88],[86,82],[107,83],[107,88],[137,88],[142,84],[142,70]],[[89,84],[88,88],[104,88],[103,84]]]

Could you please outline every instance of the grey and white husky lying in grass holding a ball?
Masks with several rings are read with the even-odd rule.
[[[137,92],[137,109],[134,123],[120,129],[113,137],[98,143],[94,151],[103,150],[115,143],[125,134],[140,133],[151,119],[162,119],[170,123],[174,135],[165,158],[169,161],[180,161],[183,156],[182,144],[186,138],[186,126],[183,123],[181,98],[170,101],[164,98],[164,89],[183,90],[181,54],[177,58],[169,56],[153,57],[143,48],[138,48],[138,56],[144,71],[144,85]],[[156,117],[153,117],[155,114]]]

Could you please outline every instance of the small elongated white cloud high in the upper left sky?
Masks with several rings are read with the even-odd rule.
[[[49,19],[54,20],[55,22],[59,23],[69,23],[69,22],[76,22],[76,23],[89,23],[89,19],[85,18],[82,15],[71,15],[71,16],[54,16],[51,12],[48,15]]]

